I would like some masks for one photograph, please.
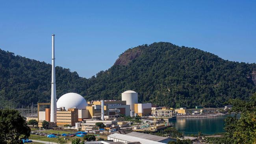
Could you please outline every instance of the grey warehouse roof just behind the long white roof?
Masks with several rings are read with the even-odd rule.
[[[145,133],[138,133],[138,132],[131,132],[131,133],[127,133],[126,135],[132,136],[132,137],[138,137],[138,138],[143,138],[143,139],[147,139],[147,140],[153,140],[156,142],[159,142],[161,140],[165,140],[167,139],[167,137],[160,137],[157,135],[149,135],[149,134],[145,134]]]

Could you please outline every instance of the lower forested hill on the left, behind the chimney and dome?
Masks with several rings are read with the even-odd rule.
[[[51,67],[45,62],[0,50],[0,96],[17,105],[50,102]],[[56,67],[56,83],[58,97],[67,92],[81,93],[88,84],[87,79],[80,78],[76,72],[59,66]]]

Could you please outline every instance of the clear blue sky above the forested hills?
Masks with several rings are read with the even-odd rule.
[[[0,48],[90,78],[126,49],[171,42],[255,63],[256,1],[0,0]]]

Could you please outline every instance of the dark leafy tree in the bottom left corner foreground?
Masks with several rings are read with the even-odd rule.
[[[22,144],[19,138],[30,136],[30,127],[26,119],[14,109],[0,109],[0,143]]]

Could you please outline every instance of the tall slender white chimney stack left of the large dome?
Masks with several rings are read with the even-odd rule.
[[[56,104],[56,83],[55,83],[55,52],[54,52],[54,34],[52,34],[52,94],[51,94],[51,115],[50,122],[57,122],[57,104]]]

